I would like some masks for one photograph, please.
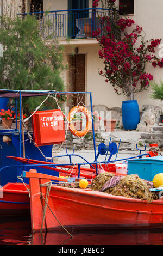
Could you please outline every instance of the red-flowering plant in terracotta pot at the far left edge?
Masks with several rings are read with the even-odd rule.
[[[12,117],[13,114],[14,114],[14,111],[10,111],[10,109],[8,110],[1,109],[0,115],[2,118],[2,126],[5,129],[10,129],[12,127],[12,123],[14,120],[14,117]]]

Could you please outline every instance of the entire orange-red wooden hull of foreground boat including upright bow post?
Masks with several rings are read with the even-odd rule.
[[[27,173],[27,172],[26,172]],[[41,174],[30,178],[30,205],[32,230],[57,228],[155,228],[163,227],[163,201],[112,196],[90,189],[69,188],[53,185],[49,192],[48,207],[45,198],[50,180]],[[37,176],[36,176],[37,175]],[[40,186],[41,185],[41,186]]]

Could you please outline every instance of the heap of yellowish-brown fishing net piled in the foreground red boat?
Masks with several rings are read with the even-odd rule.
[[[119,180],[115,183],[115,186],[110,186],[110,182],[109,186],[106,186],[106,182],[112,178],[112,175],[110,173],[104,173],[96,176],[92,181],[91,189],[103,191],[114,196],[139,198],[141,200],[147,200],[148,203],[151,203],[153,199],[158,199],[158,196],[153,191],[149,191],[149,188],[153,187],[152,182],[142,180],[136,174],[119,176]]]

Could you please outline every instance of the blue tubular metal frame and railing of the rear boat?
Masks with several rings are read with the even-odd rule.
[[[78,177],[80,177],[80,167],[81,166],[85,166],[87,164],[89,164],[89,166],[91,166],[92,168],[94,168],[93,166],[96,166],[94,169],[96,169],[96,174],[97,174],[97,170],[98,170],[98,164],[101,164],[101,163],[113,163],[113,162],[117,162],[117,161],[123,161],[123,160],[129,160],[129,159],[135,159],[137,157],[141,158],[142,156],[145,156],[145,155],[149,155],[148,153],[146,154],[141,154],[141,151],[145,151],[146,150],[146,145],[145,145],[145,149],[144,150],[140,150],[137,145],[136,145],[136,148],[137,150],[140,151],[140,154],[138,156],[134,156],[134,157],[129,157],[129,158],[125,158],[125,159],[115,159],[115,160],[111,160],[111,157],[112,155],[116,155],[117,157],[117,153],[118,153],[118,149],[120,147],[120,143],[117,147],[116,143],[112,142],[111,143],[111,138],[110,138],[110,141],[109,141],[109,146],[106,147],[104,143],[101,143],[102,145],[99,145],[99,151],[98,151],[98,154],[96,154],[96,141],[95,141],[95,130],[94,130],[94,122],[93,122],[93,107],[92,107],[92,93],[91,92],[56,92],[56,91],[45,91],[45,90],[40,90],[40,91],[35,91],[35,90],[3,90],[3,89],[0,89],[0,97],[1,97],[1,94],[2,94],[2,97],[4,97],[4,94],[6,94],[6,97],[8,97],[8,93],[12,93],[13,94],[13,97],[15,97],[15,103],[17,105],[17,99],[16,97],[19,97],[20,99],[20,117],[22,115],[22,97],[25,97],[27,96],[27,93],[29,95],[30,94],[33,94],[34,96],[40,96],[41,95],[48,95],[49,93],[53,94],[53,95],[56,95],[56,94],[89,94],[90,95],[90,105],[91,105],[91,115],[92,115],[92,133],[93,133],[93,149],[94,149],[94,155],[95,155],[95,160],[93,162],[89,162],[87,161],[86,159],[84,159],[83,156],[80,156],[78,154],[74,154],[74,150],[73,150],[73,153],[72,154],[68,154],[67,153],[67,149],[66,149],[66,155],[60,155],[60,156],[53,156],[53,159],[55,159],[55,157],[63,157],[63,156],[68,156],[69,157],[69,161],[70,163],[68,163],[68,165],[70,166],[74,166],[76,164],[72,163],[72,156],[78,156],[80,159],[82,158],[85,163],[77,163],[77,166],[78,166]],[[17,106],[15,106],[15,109],[17,109]],[[17,150],[17,156],[18,157],[22,157],[22,129],[21,129],[21,118],[20,118],[20,131],[18,132],[17,130],[17,127],[15,130],[1,130],[0,131],[0,137],[2,139],[2,136],[7,134],[8,132],[11,133],[11,136],[12,136],[12,144],[15,145],[15,148],[18,148]],[[18,134],[19,133],[19,134]],[[17,137],[18,136],[18,137]],[[3,144],[4,145],[4,144]],[[115,147],[116,145],[116,147]],[[29,145],[28,146],[28,152],[29,151],[32,151],[32,147],[34,147],[34,151],[37,150],[35,146],[33,145]],[[52,151],[52,145],[49,149],[46,148],[47,146],[42,146],[43,150],[46,151],[48,153],[48,150],[51,150]],[[104,151],[102,151],[102,149],[104,149]],[[108,152],[110,152],[110,155],[108,155]],[[10,152],[7,152],[8,154],[10,154],[10,156],[12,155],[12,153]],[[6,153],[6,154],[7,154]],[[52,152],[51,152],[52,153]],[[49,153],[49,154],[51,154]],[[104,154],[103,154],[104,153]],[[14,153],[15,154],[15,153]],[[33,153],[32,153],[33,154]],[[106,157],[105,157],[105,160],[104,161],[97,161],[98,159],[98,156],[99,155],[105,155],[106,154],[106,157],[109,156],[108,160],[106,160]],[[150,156],[150,155],[149,155]],[[28,156],[27,156],[28,158]],[[31,158],[31,157],[29,157]],[[37,160],[40,160],[40,159],[37,159]],[[14,160],[13,160],[14,161]],[[57,166],[64,166],[66,163],[64,164],[56,164],[54,163],[54,167],[57,167]],[[23,164],[23,163],[19,163],[17,165],[14,165],[14,164],[10,164],[10,165],[7,165],[5,164],[4,166],[1,167],[0,169],[0,174],[2,174],[2,170],[4,170],[5,168],[17,168],[17,176],[20,176],[21,173],[22,173],[22,168],[24,170],[24,168],[28,168],[30,169],[31,167],[43,167],[43,166],[49,166],[49,163],[47,164]],[[52,166],[52,163],[51,163],[51,166]],[[42,168],[43,169],[43,168]],[[47,169],[45,169],[44,173],[47,173],[49,174],[49,172],[52,172],[53,175],[54,175],[54,171],[49,171]],[[51,173],[51,175],[52,175]],[[56,172],[57,173],[57,172]],[[27,178],[26,178],[27,179]],[[17,182],[21,182],[20,179],[17,179]],[[27,182],[27,181],[26,181]]]

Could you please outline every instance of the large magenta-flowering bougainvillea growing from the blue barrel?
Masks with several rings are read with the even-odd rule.
[[[108,0],[108,7],[111,3],[116,9],[114,2]],[[116,16],[113,29],[110,16],[101,17],[101,28],[93,32],[101,45],[99,58],[104,59],[104,70],[99,70],[99,74],[112,84],[118,95],[123,93],[128,100],[133,100],[134,95],[147,90],[149,81],[153,80],[153,75],[146,72],[146,64],[163,66],[163,59],[154,55],[161,39],[145,41],[142,27],[127,17]]]

